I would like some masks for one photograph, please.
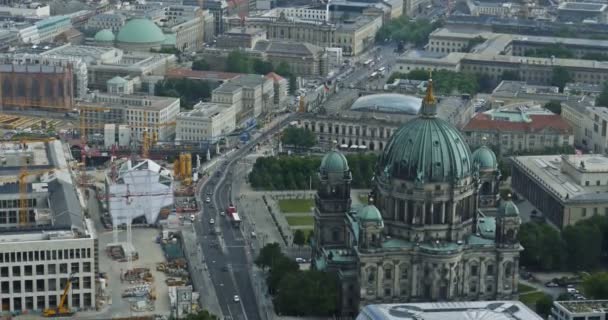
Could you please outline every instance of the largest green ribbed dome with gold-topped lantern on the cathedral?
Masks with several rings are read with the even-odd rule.
[[[432,80],[420,116],[391,137],[378,161],[378,176],[417,183],[454,182],[472,174],[471,151],[460,132],[437,118]]]

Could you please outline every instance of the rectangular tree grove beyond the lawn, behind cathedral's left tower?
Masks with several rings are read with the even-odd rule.
[[[369,154],[347,155],[352,171],[353,188],[369,188],[374,175],[377,156]],[[249,173],[249,182],[261,190],[304,190],[317,188],[317,171],[321,157],[281,156],[258,158]]]

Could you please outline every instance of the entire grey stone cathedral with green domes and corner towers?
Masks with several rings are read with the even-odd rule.
[[[326,154],[318,174],[313,267],[337,272],[343,315],[371,303],[517,296],[518,209],[498,198],[494,153],[471,154],[437,117],[432,82],[419,116],[384,148],[369,204],[351,204],[341,153]]]

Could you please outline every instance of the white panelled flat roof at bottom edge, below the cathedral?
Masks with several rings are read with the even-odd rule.
[[[357,320],[541,320],[519,301],[426,302],[371,304]]]

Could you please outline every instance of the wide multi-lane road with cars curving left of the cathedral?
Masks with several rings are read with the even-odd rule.
[[[260,319],[255,291],[252,286],[250,265],[254,257],[239,228],[233,227],[225,215],[232,203],[232,171],[238,160],[250,152],[252,146],[275,134],[299,115],[292,114],[269,128],[247,145],[225,156],[219,167],[201,188],[202,214],[195,223],[197,236],[203,248],[205,263],[209,269],[213,286],[224,317],[235,320]],[[210,202],[206,200],[209,198]],[[240,208],[237,208],[239,210]],[[246,213],[244,213],[246,214]],[[213,219],[213,223],[211,223]],[[235,296],[239,301],[235,301]]]

